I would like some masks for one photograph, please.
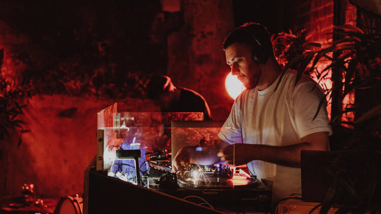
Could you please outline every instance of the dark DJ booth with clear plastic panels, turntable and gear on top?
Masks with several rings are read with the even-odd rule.
[[[222,122],[203,113],[98,113],[97,156],[85,172],[84,213],[249,213],[266,211],[271,190],[246,166],[190,164],[172,173],[185,146],[213,145]]]

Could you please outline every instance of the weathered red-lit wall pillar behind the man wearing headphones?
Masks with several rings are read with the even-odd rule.
[[[175,85],[196,90],[215,120],[226,120],[233,99],[225,89],[230,72],[222,42],[234,27],[231,1],[182,1],[184,25],[168,37],[168,74]]]

